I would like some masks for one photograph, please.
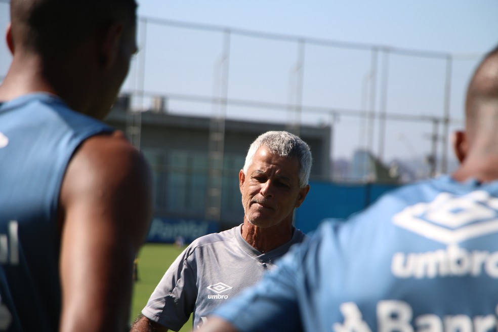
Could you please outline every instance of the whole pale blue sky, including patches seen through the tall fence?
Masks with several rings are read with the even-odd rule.
[[[295,0],[143,0],[140,17],[204,24],[220,28],[246,29],[286,36],[300,36],[348,43],[361,43],[430,52],[469,55],[452,64],[450,115],[457,119],[450,131],[461,127],[464,93],[479,56],[498,44],[498,2],[495,0],[439,1],[295,1]],[[0,3],[0,25],[8,21],[7,6]],[[142,29],[139,29],[139,41]],[[136,89],[140,79],[149,95],[205,98],[219,88],[217,70],[223,33],[149,24],[145,49],[134,60],[123,91]],[[264,103],[292,104],[296,100],[297,44],[232,34],[230,41],[228,97]],[[368,96],[376,95],[375,109],[382,108],[382,77],[377,90],[365,89],[371,54],[307,45],[304,64],[303,105],[319,108],[364,109]],[[378,64],[385,58],[380,54]],[[464,59],[464,60],[462,60]],[[470,60],[469,60],[470,59]],[[141,61],[145,67],[141,68]],[[445,63],[441,60],[392,54],[389,60],[387,112],[408,115],[442,115]],[[0,46],[0,76],[5,74],[10,56]],[[143,65],[142,65],[143,66]],[[378,68],[381,71],[381,67]],[[140,78],[141,77],[141,78]],[[210,105],[170,98],[172,112],[211,114]],[[229,107],[233,117],[260,121],[291,121],[286,111],[268,107],[253,110]],[[358,118],[332,118],[310,114],[303,121],[334,124],[334,157],[350,158],[354,149],[370,146],[380,153],[380,127],[371,140],[366,123]],[[383,157],[420,157],[431,153],[429,122],[388,121]],[[439,129],[441,135],[441,129]],[[438,153],[442,146],[438,143]],[[449,148],[446,151],[451,157]]]

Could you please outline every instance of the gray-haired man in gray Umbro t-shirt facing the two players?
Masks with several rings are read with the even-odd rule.
[[[310,189],[311,162],[308,145],[296,135],[260,135],[239,172],[243,223],[193,241],[166,271],[132,331],[177,331],[192,312],[197,328],[302,242],[306,235],[293,217]]]

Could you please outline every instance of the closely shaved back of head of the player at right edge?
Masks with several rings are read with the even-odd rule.
[[[465,108],[469,139],[473,140],[477,134],[498,133],[498,47],[484,57],[474,72]]]

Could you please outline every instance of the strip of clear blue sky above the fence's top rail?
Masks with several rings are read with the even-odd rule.
[[[441,52],[498,44],[494,0],[144,0],[139,14]]]

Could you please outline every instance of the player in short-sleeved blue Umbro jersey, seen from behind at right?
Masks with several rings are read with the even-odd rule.
[[[215,310],[206,331],[488,331],[498,327],[498,49],[467,94],[452,175],[324,223]]]

